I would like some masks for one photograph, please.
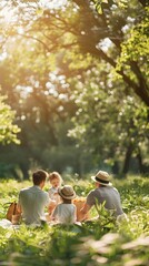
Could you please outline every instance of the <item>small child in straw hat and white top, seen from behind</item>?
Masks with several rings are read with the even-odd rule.
[[[58,190],[59,195],[62,198],[62,203],[58,204],[52,213],[52,221],[60,224],[73,224],[77,221],[77,208],[72,204],[72,200],[76,197],[76,192],[72,186],[64,185]]]

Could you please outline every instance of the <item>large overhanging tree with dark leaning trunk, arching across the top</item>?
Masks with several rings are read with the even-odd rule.
[[[13,1],[9,2],[9,8],[11,4]],[[20,13],[17,13],[18,10]],[[33,18],[31,22],[29,10]],[[19,35],[32,40],[32,43],[37,41],[47,54],[57,53],[59,49],[70,49],[76,53],[80,48],[83,54],[90,53],[116,69],[130,90],[149,105],[143,71],[148,57],[145,49],[148,47],[149,23],[147,1],[73,0],[61,9],[49,9],[48,6],[43,9],[37,1],[21,1],[14,3],[14,12],[20,17],[20,22],[7,29],[8,35]],[[107,40],[110,48],[105,50],[102,45]],[[136,43],[140,49],[135,55]],[[122,63],[117,65],[121,58]]]

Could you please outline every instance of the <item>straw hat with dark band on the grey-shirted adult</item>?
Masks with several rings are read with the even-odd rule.
[[[105,186],[112,186],[112,183],[110,183],[110,175],[105,171],[99,171],[96,176],[91,176],[91,180]]]

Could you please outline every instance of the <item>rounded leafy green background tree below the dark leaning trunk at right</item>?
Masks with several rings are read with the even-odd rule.
[[[98,74],[97,69],[92,69],[82,81],[73,81],[78,111],[69,135],[77,139],[87,153],[95,154],[102,167],[103,164],[112,167],[115,173],[127,174],[133,168],[130,162],[140,154],[142,164],[136,163],[136,171],[143,172],[148,154],[148,110],[133,94],[126,95],[122,83],[111,84],[108,72],[102,64]]]

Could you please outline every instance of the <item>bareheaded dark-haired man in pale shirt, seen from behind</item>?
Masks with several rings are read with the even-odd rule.
[[[48,192],[42,188],[48,173],[38,170],[32,174],[33,186],[22,188],[19,193],[18,211],[22,213],[22,221],[30,224],[41,224],[46,221],[44,207],[53,208],[56,203],[49,198]]]

